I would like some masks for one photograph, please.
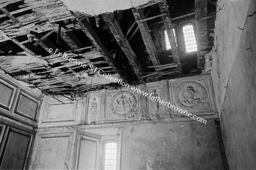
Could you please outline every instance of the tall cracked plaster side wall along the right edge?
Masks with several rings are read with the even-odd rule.
[[[221,9],[221,11],[220,11]],[[212,80],[230,170],[256,167],[256,1],[218,1]]]

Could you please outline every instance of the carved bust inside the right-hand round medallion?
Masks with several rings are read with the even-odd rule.
[[[201,98],[195,98],[195,95],[198,95],[197,92],[195,92],[193,86],[188,86],[185,93],[182,94],[184,100],[182,101],[185,105],[197,105],[198,102],[200,102]]]

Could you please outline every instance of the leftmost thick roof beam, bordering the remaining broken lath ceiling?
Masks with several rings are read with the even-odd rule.
[[[78,15],[79,17],[81,17],[81,14],[79,12],[74,13],[74,15],[75,16]],[[101,42],[101,40],[99,39],[99,36],[96,34],[93,28],[91,28],[88,21],[86,19],[79,20],[79,24],[83,28],[82,30],[84,31],[86,36],[93,43],[93,46],[105,54],[104,59],[106,61],[109,61],[109,65],[111,65],[112,69],[115,70],[117,73],[121,74],[121,68],[119,67],[115,59],[113,59],[113,57],[111,56],[110,52],[107,50],[105,45]]]

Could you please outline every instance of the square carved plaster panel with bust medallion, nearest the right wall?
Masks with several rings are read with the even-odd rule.
[[[189,113],[215,113],[209,75],[169,80],[173,105]],[[174,111],[177,115],[178,111]]]

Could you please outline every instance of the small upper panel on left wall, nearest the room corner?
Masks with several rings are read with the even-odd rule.
[[[20,90],[17,95],[14,113],[37,122],[39,105],[40,101],[38,99]]]

